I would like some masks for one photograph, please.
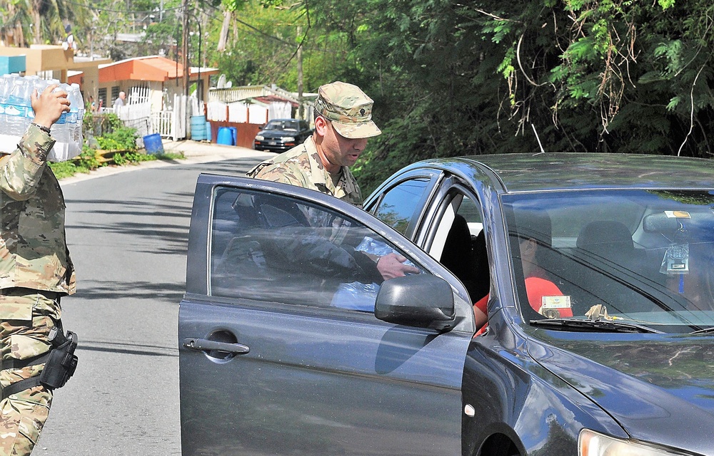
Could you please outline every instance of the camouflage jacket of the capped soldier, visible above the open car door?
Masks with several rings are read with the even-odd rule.
[[[362,192],[357,180],[348,167],[343,166],[341,170],[340,180],[334,185],[310,137],[288,152],[262,162],[250,170],[247,176],[317,190],[362,207]]]

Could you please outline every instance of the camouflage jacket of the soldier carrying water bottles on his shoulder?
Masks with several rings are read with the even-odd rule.
[[[64,196],[46,164],[53,145],[30,125],[16,150],[0,158],[0,289],[75,291]]]

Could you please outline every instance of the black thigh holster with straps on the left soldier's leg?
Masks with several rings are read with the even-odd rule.
[[[79,359],[74,354],[77,348],[77,335],[72,331],[67,331],[65,334],[61,323],[57,323],[57,326],[54,326],[49,333],[49,341],[52,344],[52,348],[40,356],[24,360],[3,360],[4,369],[19,369],[42,363],[45,365],[40,375],[25,378],[3,388],[3,399],[11,394],[16,394],[38,385],[43,385],[48,390],[61,388],[74,375]]]

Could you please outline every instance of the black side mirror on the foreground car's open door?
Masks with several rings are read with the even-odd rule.
[[[388,323],[446,331],[456,324],[453,291],[446,280],[430,274],[386,280],[374,315]]]

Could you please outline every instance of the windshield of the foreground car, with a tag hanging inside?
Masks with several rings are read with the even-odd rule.
[[[714,190],[503,198],[524,319],[714,326]]]

